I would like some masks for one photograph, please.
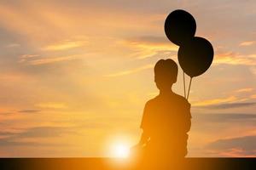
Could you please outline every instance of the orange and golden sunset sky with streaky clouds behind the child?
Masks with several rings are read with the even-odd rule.
[[[2,0],[0,156],[112,156],[114,144],[136,144],[158,94],[154,64],[177,61],[164,32],[177,8],[215,51],[192,82],[188,156],[256,156],[254,0]],[[179,68],[181,95],[182,81]]]

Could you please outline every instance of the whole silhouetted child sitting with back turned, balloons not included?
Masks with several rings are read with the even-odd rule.
[[[190,104],[172,92],[172,84],[177,82],[177,64],[172,59],[160,59],[156,63],[154,82],[160,94],[148,100],[144,107],[143,134],[133,150],[143,150],[147,164],[168,164],[187,155]]]

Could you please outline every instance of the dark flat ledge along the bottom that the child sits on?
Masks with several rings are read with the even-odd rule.
[[[78,170],[131,169],[128,159],[114,158],[1,158],[0,169]],[[184,169],[256,169],[256,158],[186,158]],[[137,169],[137,168],[132,168]],[[142,169],[142,168],[138,168]]]

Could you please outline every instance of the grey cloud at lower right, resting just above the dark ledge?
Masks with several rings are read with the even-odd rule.
[[[256,136],[218,139],[207,144],[206,149],[215,156],[256,156]]]

